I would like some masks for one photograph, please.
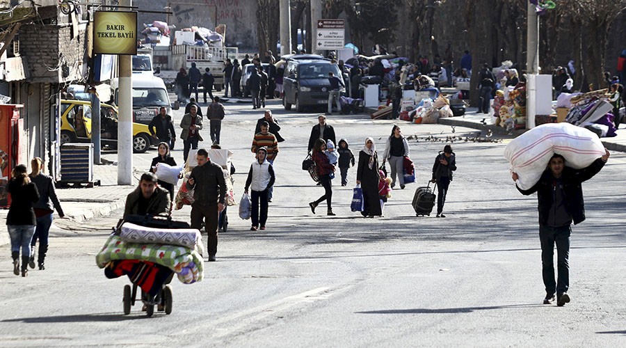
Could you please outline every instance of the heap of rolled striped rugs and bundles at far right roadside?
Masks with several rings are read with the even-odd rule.
[[[617,136],[616,117],[611,113],[613,105],[608,101],[607,89],[593,90],[588,93],[561,93],[557,106],[570,107],[565,122],[590,129],[597,136]]]

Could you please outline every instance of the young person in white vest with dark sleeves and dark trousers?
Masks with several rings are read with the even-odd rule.
[[[274,181],[274,169],[272,164],[267,161],[267,149],[258,148],[256,159],[252,162],[252,164],[250,164],[248,180],[246,180],[246,188],[244,189],[246,193],[248,193],[248,188],[252,189],[252,192],[250,193],[250,200],[252,200],[250,212],[250,218],[252,219],[252,227],[250,227],[251,231],[257,230],[257,228],[259,228],[259,224],[261,230],[265,230],[268,210],[268,193],[270,187],[273,186]],[[260,220],[259,203],[261,205]]]

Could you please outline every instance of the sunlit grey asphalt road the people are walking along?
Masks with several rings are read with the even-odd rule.
[[[14,276],[0,254],[0,346],[225,347],[623,347],[626,315],[626,155],[615,153],[584,184],[587,220],[573,228],[570,296],[563,308],[541,304],[536,197],[515,190],[504,143],[455,142],[458,171],[446,219],[417,218],[410,206],[430,178],[444,143],[423,139],[474,134],[472,129],[401,123],[417,183],[392,191],[385,217],[350,211],[350,184],[333,191],[337,216],[315,216],[307,203],[323,194],[300,163],[316,112],[268,106],[282,125],[277,180],[266,231],[249,231],[230,207],[217,262],[204,280],[172,281],[174,310],[145,317],[136,305],[122,315],[125,278],[109,280],[95,255],[120,216],[81,223],[56,221],[45,271]],[[262,112],[227,104],[222,145],[234,152],[239,198]],[[175,113],[179,120],[182,113]],[[329,116],[337,138],[357,155],[367,136],[382,152],[391,121]],[[202,131],[209,139],[208,131]],[[204,145],[208,146],[209,141]],[[150,166],[156,151],[134,156]],[[104,155],[115,159],[110,154]],[[182,143],[174,152],[182,161]],[[319,209],[324,211],[324,209]],[[190,209],[175,212],[188,219]]]

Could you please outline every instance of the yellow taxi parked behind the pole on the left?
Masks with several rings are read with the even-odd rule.
[[[61,100],[61,145],[91,141],[91,103],[83,100]],[[102,145],[117,148],[118,108],[100,104],[100,139]],[[145,152],[159,140],[150,135],[147,125],[133,122],[133,152]]]

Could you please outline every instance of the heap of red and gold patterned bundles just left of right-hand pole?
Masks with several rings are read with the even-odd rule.
[[[510,129],[526,128],[526,84],[497,90],[493,101],[494,124]]]

